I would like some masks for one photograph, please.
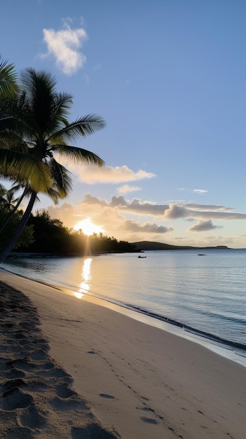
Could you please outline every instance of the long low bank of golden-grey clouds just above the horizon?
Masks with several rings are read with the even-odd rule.
[[[100,226],[103,233],[108,236],[115,236],[119,240],[134,241],[159,241],[177,245],[230,245],[233,246],[235,237],[207,236],[205,232],[222,229],[221,225],[213,224],[215,219],[221,221],[246,219],[246,214],[232,212],[231,208],[223,205],[199,205],[199,204],[177,204],[170,205],[155,204],[151,201],[142,201],[139,198],[127,200],[123,195],[113,196],[107,201],[97,196],[87,194],[83,201],[76,204],[64,203],[63,205],[50,206],[48,211],[53,218],[59,218],[67,227],[74,227],[81,219],[90,218],[91,221]],[[139,219],[136,219],[136,215]],[[146,221],[146,216],[149,220]],[[141,219],[143,218],[143,220]],[[184,237],[175,236],[175,225],[170,224],[176,219],[193,221],[193,225],[186,229]],[[177,230],[180,234],[180,224]],[[187,223],[186,223],[187,224]],[[189,238],[190,232],[198,238]],[[204,232],[204,234],[202,233]],[[164,238],[168,236],[168,238]],[[180,236],[180,235],[179,235]],[[241,238],[242,240],[242,238]],[[176,242],[175,242],[176,241]]]

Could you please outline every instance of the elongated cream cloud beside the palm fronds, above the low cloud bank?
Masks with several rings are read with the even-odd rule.
[[[156,177],[153,173],[147,173],[139,169],[137,172],[129,169],[128,166],[76,166],[74,163],[67,163],[67,168],[76,174],[81,182],[87,184],[95,183],[123,183],[144,180],[146,178]]]

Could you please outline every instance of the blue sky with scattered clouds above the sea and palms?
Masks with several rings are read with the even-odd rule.
[[[105,162],[74,166],[48,210],[118,240],[246,248],[245,0],[0,0],[0,54],[50,72],[76,141]]]

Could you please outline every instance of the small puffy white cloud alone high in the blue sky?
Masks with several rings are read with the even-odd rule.
[[[41,58],[52,56],[64,74],[74,74],[86,62],[86,55],[79,49],[87,38],[86,30],[82,27],[71,29],[69,19],[64,22],[64,29],[43,29],[43,41],[47,45],[48,53],[42,54]]]

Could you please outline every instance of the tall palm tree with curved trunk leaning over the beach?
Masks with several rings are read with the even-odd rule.
[[[55,201],[64,198],[71,191],[71,174],[57,161],[57,155],[70,158],[74,163],[93,163],[103,166],[104,161],[91,151],[74,147],[70,143],[78,137],[84,137],[95,130],[105,126],[104,120],[95,114],[88,114],[76,121],[69,123],[67,115],[71,109],[72,97],[67,93],[57,93],[55,90],[56,80],[46,72],[36,72],[34,69],[26,69],[22,73],[20,89],[16,99],[8,100],[8,105],[3,105],[8,119],[8,129],[1,131],[5,151],[17,152],[20,158],[31,158],[40,166],[45,180],[41,180],[41,186],[33,184],[30,177],[16,180],[25,181],[27,187],[31,187],[31,194],[27,209],[13,234],[8,246],[0,253],[2,262],[11,252],[18,241],[22,229],[25,227],[38,192],[51,196]],[[1,155],[0,155],[1,159]],[[22,160],[22,171],[30,175],[29,167],[32,166]],[[7,164],[7,163],[6,163]],[[44,168],[43,168],[44,167]],[[1,168],[0,168],[1,169]],[[10,170],[13,173],[13,168]],[[35,166],[36,172],[36,166]]]

